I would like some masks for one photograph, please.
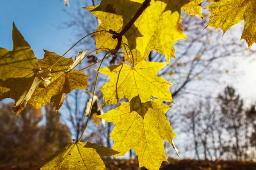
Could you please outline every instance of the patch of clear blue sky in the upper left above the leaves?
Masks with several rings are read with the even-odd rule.
[[[76,10],[64,6],[63,1],[0,0],[0,47],[12,50],[12,22],[15,22],[38,59],[43,58],[43,49],[62,55],[73,43],[70,42],[72,29],[57,27],[67,21],[64,8],[67,11]],[[76,6],[74,0],[70,1],[70,6]],[[90,1],[88,6],[92,6]]]

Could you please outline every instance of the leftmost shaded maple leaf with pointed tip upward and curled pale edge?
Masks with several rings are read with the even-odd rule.
[[[34,52],[14,23],[12,40],[12,51],[0,48],[0,101],[14,99],[15,106],[12,109],[16,115],[26,107],[38,86],[49,84],[51,70],[39,69]]]

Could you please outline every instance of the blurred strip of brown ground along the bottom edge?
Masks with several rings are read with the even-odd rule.
[[[138,170],[137,159],[105,159],[109,170]],[[169,159],[163,162],[160,170],[256,170],[253,161],[196,161],[190,159]],[[29,170],[32,164],[13,163],[0,164],[0,170]],[[140,170],[146,170],[141,168]]]

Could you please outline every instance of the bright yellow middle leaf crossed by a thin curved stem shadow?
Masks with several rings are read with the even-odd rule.
[[[100,90],[103,93],[104,106],[116,104],[120,99],[132,98],[140,94],[141,102],[148,102],[152,96],[166,102],[173,102],[169,86],[173,85],[166,79],[157,76],[166,63],[139,62],[134,68],[121,63],[99,70],[111,78]]]

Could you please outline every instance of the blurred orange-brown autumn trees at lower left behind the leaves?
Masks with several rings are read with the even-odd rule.
[[[1,163],[35,163],[71,142],[67,125],[60,122],[52,104],[47,105],[45,115],[43,109],[27,106],[15,117],[12,106],[0,104]]]

